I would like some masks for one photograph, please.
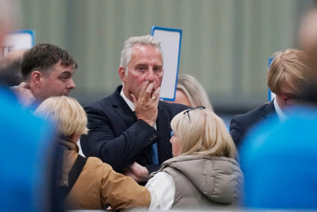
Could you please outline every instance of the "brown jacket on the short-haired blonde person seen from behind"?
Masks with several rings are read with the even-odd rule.
[[[68,173],[78,156],[79,148],[71,139],[59,139],[64,149],[62,180],[68,186]],[[66,209],[102,209],[109,204],[113,210],[148,207],[150,192],[131,177],[113,171],[97,157],[88,157],[74,187],[65,199]]]

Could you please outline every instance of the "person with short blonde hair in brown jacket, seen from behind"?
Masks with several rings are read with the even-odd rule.
[[[36,115],[47,117],[56,123],[60,148],[63,149],[62,176],[59,187],[69,186],[69,173],[74,166],[79,148],[80,135],[87,134],[87,115],[79,103],[70,97],[49,97],[44,100]],[[65,196],[66,209],[103,209],[107,204],[114,210],[132,207],[148,207],[149,191],[139,186],[132,178],[113,171],[110,165],[97,157],[87,161]]]

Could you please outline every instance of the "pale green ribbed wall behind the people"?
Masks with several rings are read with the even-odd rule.
[[[111,94],[123,42],[151,26],[183,30],[179,73],[191,74],[218,111],[267,101],[268,58],[296,48],[298,21],[313,0],[20,0],[21,29],[36,43],[72,53],[72,96],[82,104]]]

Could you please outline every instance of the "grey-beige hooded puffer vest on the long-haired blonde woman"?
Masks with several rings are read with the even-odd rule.
[[[171,209],[228,210],[237,207],[244,177],[234,159],[178,156],[165,161],[158,172],[162,171],[169,173],[175,183]]]

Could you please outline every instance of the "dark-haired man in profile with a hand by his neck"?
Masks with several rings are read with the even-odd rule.
[[[43,43],[26,51],[21,61],[24,79],[14,88],[21,104],[38,104],[50,96],[68,96],[75,88],[75,59],[59,46]]]

